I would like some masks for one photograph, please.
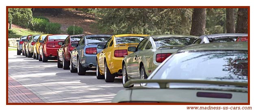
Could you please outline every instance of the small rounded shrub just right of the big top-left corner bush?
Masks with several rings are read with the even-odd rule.
[[[44,18],[33,18],[32,25],[30,29],[33,31],[46,32],[46,25],[49,23],[49,19]]]

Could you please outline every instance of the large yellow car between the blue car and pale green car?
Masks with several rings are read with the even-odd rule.
[[[115,77],[122,76],[122,60],[128,54],[129,46],[137,46],[141,40],[149,35],[122,34],[114,35],[106,42],[106,45],[99,44],[98,48],[103,49],[97,54],[96,76],[97,79],[104,79],[106,82],[114,82]]]

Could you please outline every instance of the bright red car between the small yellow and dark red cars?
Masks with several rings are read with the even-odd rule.
[[[57,60],[57,50],[69,35],[48,35],[44,40],[39,40],[39,59],[43,62]]]

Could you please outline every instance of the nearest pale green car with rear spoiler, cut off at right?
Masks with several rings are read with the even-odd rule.
[[[113,103],[248,103],[248,43],[193,44],[169,56]]]

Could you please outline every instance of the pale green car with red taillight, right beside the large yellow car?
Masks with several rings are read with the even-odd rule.
[[[122,62],[123,86],[128,80],[148,78],[167,57],[192,44],[197,38],[189,35],[147,36],[137,47],[128,47],[128,51],[133,53]]]

